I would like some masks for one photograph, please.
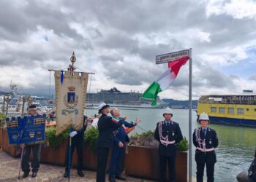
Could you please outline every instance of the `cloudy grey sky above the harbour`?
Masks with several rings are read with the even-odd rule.
[[[0,90],[49,95],[75,51],[91,92],[143,92],[167,68],[156,55],[192,48],[192,96],[256,91],[256,1],[0,1]],[[89,82],[90,84],[90,82]],[[187,100],[189,63],[159,96]],[[89,90],[88,89],[88,90]]]

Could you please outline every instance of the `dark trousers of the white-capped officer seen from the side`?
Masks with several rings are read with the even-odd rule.
[[[97,148],[97,182],[105,182],[109,148]]]

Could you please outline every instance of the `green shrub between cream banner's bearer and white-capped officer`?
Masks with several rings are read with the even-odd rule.
[[[96,153],[96,141],[99,136],[99,130],[97,127],[91,127],[86,130],[85,140],[89,143],[90,151]]]

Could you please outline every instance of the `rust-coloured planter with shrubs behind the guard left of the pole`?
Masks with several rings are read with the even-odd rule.
[[[186,138],[177,144],[177,150],[176,180],[187,182],[188,143]],[[127,175],[159,179],[158,141],[154,139],[154,132],[143,132],[130,138],[124,164]]]

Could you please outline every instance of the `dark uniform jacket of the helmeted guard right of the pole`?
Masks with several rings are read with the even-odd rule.
[[[202,128],[198,128],[199,129],[199,135],[200,135],[200,139],[204,140],[206,142],[206,149],[211,149],[211,148],[217,148],[217,146],[219,145],[219,140],[218,140],[218,136],[215,130],[211,129],[211,128],[207,128],[206,130],[206,136],[203,134],[203,130]],[[198,130],[197,129],[197,130]],[[195,135],[196,129],[193,133],[193,143],[195,147],[199,147],[200,145],[197,142],[197,138]],[[201,146],[202,147],[202,146]],[[199,149],[195,150],[195,161],[199,162],[200,160],[202,161],[209,161],[209,162],[217,162],[217,158],[216,158],[216,154],[215,151],[200,151]]]

